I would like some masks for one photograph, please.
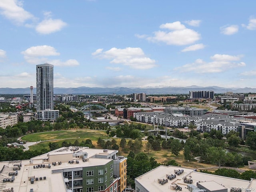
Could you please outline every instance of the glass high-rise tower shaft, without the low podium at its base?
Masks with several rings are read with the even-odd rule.
[[[53,65],[36,66],[36,110],[53,110]]]

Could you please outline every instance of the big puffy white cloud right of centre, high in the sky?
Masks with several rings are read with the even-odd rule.
[[[188,45],[201,38],[198,32],[186,28],[179,21],[162,24],[160,28],[171,30],[171,32],[159,30],[154,32],[154,36],[146,39],[152,42],[164,42],[168,45]]]

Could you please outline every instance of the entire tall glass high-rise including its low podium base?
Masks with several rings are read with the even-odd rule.
[[[58,110],[54,110],[53,97],[53,65],[42,64],[36,66],[36,111],[37,119],[55,121]]]

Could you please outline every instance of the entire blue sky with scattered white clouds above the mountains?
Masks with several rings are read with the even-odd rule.
[[[0,87],[256,88],[255,0],[0,0]]]

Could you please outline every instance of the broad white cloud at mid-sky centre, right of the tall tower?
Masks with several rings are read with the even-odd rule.
[[[98,49],[92,54],[100,58],[110,59],[110,63],[123,64],[134,69],[150,69],[156,66],[156,61],[146,57],[141,48],[111,48],[105,52],[102,52],[102,49]]]

